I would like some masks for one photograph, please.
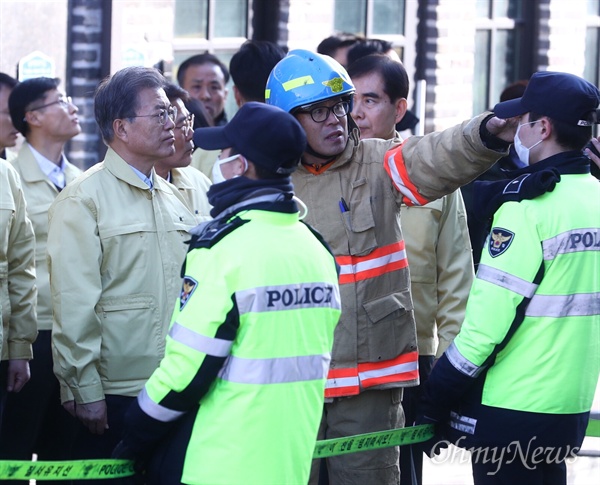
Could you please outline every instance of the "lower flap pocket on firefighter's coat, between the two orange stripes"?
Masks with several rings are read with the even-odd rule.
[[[408,290],[363,303],[367,316],[369,362],[417,350],[413,305]]]

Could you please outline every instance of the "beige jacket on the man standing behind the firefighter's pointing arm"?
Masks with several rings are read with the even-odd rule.
[[[456,190],[401,213],[419,354],[440,357],[460,330],[475,276],[465,204]]]

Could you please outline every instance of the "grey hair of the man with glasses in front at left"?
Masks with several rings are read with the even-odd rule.
[[[144,89],[164,89],[167,81],[151,67],[126,67],[102,80],[94,94],[94,116],[104,143],[113,141],[113,121],[135,116]]]

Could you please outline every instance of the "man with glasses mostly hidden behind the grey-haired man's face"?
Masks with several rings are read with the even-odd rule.
[[[210,188],[210,179],[200,170],[190,167],[194,151],[194,115],[185,103],[190,99],[185,89],[169,83],[165,93],[171,105],[177,109],[175,118],[175,153],[159,160],[154,166],[156,174],[172,183],[183,198],[198,223],[209,220],[210,204],[206,192]]]

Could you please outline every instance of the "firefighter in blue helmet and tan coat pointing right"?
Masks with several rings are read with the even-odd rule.
[[[453,192],[506,153],[514,133],[486,113],[401,143],[360,140],[350,117],[354,92],[339,63],[301,49],[267,82],[267,103],[294,114],[306,131],[308,147],[292,181],[308,207],[306,222],[341,267],[342,316],[319,439],[404,425],[402,389],[418,384],[419,375],[402,203],[424,205]],[[329,458],[329,481],[396,484],[398,455],[390,447]]]

